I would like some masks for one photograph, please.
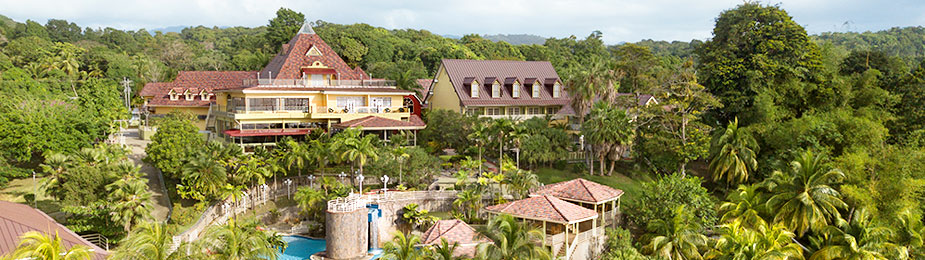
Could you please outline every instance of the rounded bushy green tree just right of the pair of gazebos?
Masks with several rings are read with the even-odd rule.
[[[632,203],[628,203],[627,215],[638,225],[654,221],[667,222],[675,215],[674,210],[683,205],[685,211],[693,214],[692,225],[695,225],[696,230],[712,227],[717,220],[716,199],[700,186],[701,182],[699,177],[671,174],[643,183],[640,194],[636,195]],[[652,229],[647,230],[654,232]]]

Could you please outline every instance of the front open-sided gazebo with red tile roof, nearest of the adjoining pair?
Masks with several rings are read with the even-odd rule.
[[[597,212],[553,196],[540,195],[488,206],[485,211],[509,214],[542,227],[546,234],[543,246],[550,246],[556,256],[564,252],[565,259],[572,256],[577,244],[597,237],[597,221],[594,221],[599,216]]]

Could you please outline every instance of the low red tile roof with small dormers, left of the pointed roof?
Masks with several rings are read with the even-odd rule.
[[[148,97],[149,106],[178,106],[202,107],[208,106],[215,100],[214,95],[209,100],[202,100],[199,92],[213,93],[217,90],[238,88],[244,86],[245,79],[257,78],[256,71],[180,71],[173,82],[152,82],[142,87],[139,95]],[[180,95],[177,100],[170,100],[170,90]],[[186,100],[183,96],[187,90],[196,97]]]

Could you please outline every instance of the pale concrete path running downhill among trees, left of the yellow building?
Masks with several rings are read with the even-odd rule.
[[[141,166],[141,173],[145,174],[145,177],[148,178],[148,190],[152,193],[152,199],[154,199],[154,211],[151,212],[151,216],[154,217],[157,221],[164,221],[167,219],[167,215],[170,214],[170,199],[167,197],[167,190],[164,187],[164,183],[161,182],[163,179],[161,171],[154,168],[154,166],[148,165],[143,162],[142,159],[147,156],[145,154],[145,147],[148,146],[151,141],[141,140],[138,135],[138,129],[126,129],[125,132],[125,144],[131,150],[129,158],[135,162],[136,165]],[[118,141],[118,134],[116,135],[116,140]]]

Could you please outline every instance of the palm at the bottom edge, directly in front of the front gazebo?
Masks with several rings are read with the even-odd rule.
[[[476,252],[482,259],[548,259],[549,250],[539,245],[546,235],[543,232],[511,215],[500,215],[479,228],[479,233],[494,243],[479,244]]]

